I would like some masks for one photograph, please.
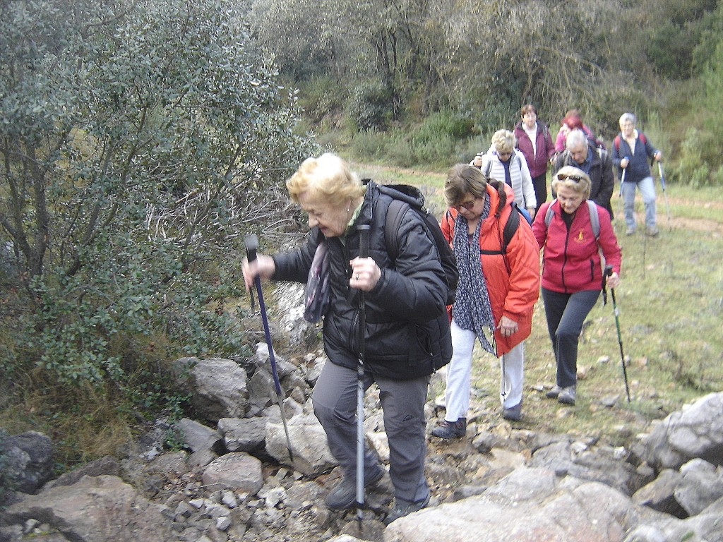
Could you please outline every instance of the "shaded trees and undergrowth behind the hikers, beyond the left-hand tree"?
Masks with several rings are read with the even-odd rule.
[[[723,181],[716,1],[256,0],[249,20],[309,126],[356,158],[467,160],[533,103],[608,145],[632,111],[673,177]]]

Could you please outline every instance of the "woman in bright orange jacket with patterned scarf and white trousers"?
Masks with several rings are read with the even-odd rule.
[[[502,417],[522,416],[524,339],[539,296],[539,249],[526,220],[504,248],[503,231],[514,194],[471,165],[458,164],[445,181],[450,209],[442,232],[457,258],[459,284],[452,306],[452,360],[447,368],[446,413],[432,435],[466,434],[475,340],[500,358]]]

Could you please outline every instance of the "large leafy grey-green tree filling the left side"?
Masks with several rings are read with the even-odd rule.
[[[293,221],[314,147],[233,4],[10,0],[0,51],[0,370],[123,386],[159,337],[238,353],[239,241]]]

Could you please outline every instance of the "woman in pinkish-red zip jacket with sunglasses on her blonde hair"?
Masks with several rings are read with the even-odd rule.
[[[612,265],[607,285],[620,281],[620,246],[612,231],[610,215],[599,205],[598,236],[591,223],[588,205],[590,178],[581,169],[565,165],[557,171],[552,190],[557,199],[540,207],[532,231],[542,249],[542,301],[547,330],[557,361],[555,387],[547,397],[560,403],[575,404],[578,337],[585,318],[602,291],[602,262]],[[548,208],[552,209],[549,225]]]

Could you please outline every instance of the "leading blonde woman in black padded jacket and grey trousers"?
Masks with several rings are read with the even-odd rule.
[[[307,158],[286,186],[291,199],[309,215],[307,241],[299,249],[259,254],[253,262],[244,262],[244,279],[247,288],[257,276],[322,285],[315,295],[307,295],[307,300],[315,300],[315,307],[307,306],[307,311],[324,319],[328,356],[312,404],[343,472],[326,504],[333,510],[356,506],[357,460],[363,463],[364,486],[374,485],[385,474],[371,450],[357,458],[356,391],[361,378],[364,390],[372,384],[380,390],[395,490],[395,506],[385,518],[391,522],[429,503],[424,404],[430,375],[452,355],[445,272],[422,218],[411,208],[393,232],[398,251],[395,257],[389,254],[385,220],[393,198],[375,182],[359,181],[338,156]],[[360,256],[365,231],[369,257]],[[320,254],[324,263],[317,267]],[[320,280],[312,278],[317,268],[325,274]],[[363,376],[357,372],[362,345]]]

